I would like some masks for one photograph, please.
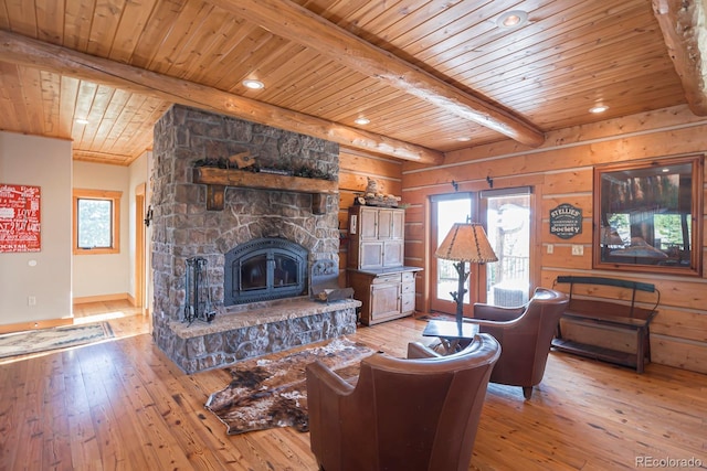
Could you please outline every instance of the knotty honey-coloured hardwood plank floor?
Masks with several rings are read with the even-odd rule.
[[[226,436],[203,404],[228,375],[183,374],[145,333],[145,319],[109,319],[112,342],[0,365],[0,469],[316,470],[308,433]],[[351,338],[402,355],[424,325],[405,318]],[[705,468],[706,410],[706,375],[655,364],[639,375],[551,353],[532,399],[489,385],[469,470],[655,468],[666,459]]]

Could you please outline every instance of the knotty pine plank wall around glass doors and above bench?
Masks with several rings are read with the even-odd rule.
[[[531,185],[537,223],[531,283],[551,287],[555,278],[563,274],[614,276],[655,283],[662,299],[659,313],[651,327],[653,362],[707,373],[707,275],[694,278],[592,269],[594,165],[697,152],[707,152],[707,119],[695,117],[687,107],[674,107],[552,131],[539,149],[502,141],[451,152],[444,164],[435,168],[404,163],[402,196],[410,204],[405,215],[405,264],[424,268],[430,259],[429,196],[452,193],[452,181],[458,184],[458,191],[487,189],[487,176],[493,178],[495,189]],[[366,172],[379,171],[372,160],[354,156],[342,158],[342,168],[350,172],[350,178],[356,178],[359,173],[350,164],[358,167],[362,162]],[[384,179],[395,181],[389,173],[394,168],[382,163],[380,168]],[[341,197],[344,201],[347,195],[342,193]],[[549,232],[549,210],[560,203],[571,203],[583,211],[582,233],[571,239],[561,239]],[[342,202],[341,211],[346,207],[348,204]],[[553,246],[552,254],[548,254],[548,245]],[[581,245],[583,255],[572,256],[572,245]],[[701,249],[703,257],[707,256],[705,240]],[[418,282],[420,311],[429,306],[426,286],[425,270]]]

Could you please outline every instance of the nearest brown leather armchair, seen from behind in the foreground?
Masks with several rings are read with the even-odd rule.
[[[499,354],[490,335],[450,356],[410,344],[408,360],[377,353],[361,361],[356,386],[309,364],[309,436],[319,469],[466,471]]]

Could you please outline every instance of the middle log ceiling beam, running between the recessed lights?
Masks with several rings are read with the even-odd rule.
[[[281,38],[306,45],[333,61],[387,82],[408,94],[538,147],[545,135],[521,118],[443,82],[288,0],[208,0]]]

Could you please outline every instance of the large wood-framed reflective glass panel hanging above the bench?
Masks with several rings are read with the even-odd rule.
[[[594,169],[597,269],[701,275],[703,156]]]

